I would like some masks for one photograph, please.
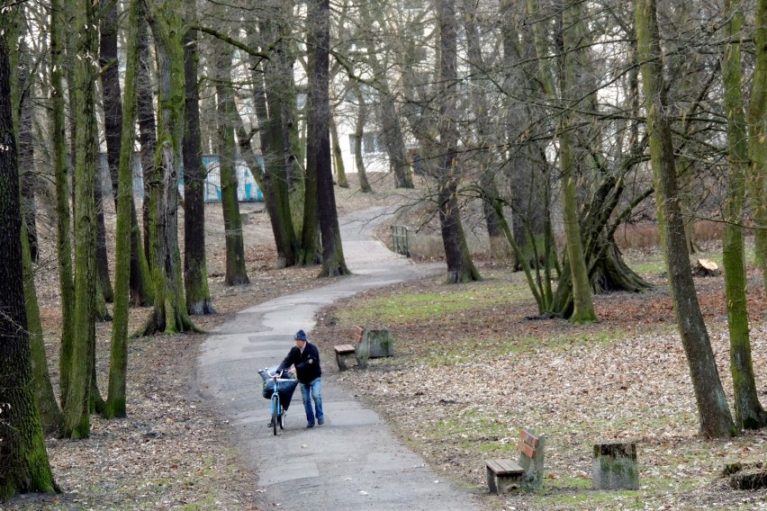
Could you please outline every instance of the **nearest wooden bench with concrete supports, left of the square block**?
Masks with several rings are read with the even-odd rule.
[[[510,489],[527,491],[540,489],[543,483],[544,446],[546,437],[536,436],[532,430],[519,430],[519,462],[513,460],[485,460],[487,486],[491,493],[501,495]]]

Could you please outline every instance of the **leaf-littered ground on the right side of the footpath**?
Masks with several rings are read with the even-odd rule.
[[[502,265],[481,264],[480,271],[485,280],[461,292],[479,296],[485,287],[509,292],[509,286],[525,286],[519,273]],[[414,451],[476,492],[486,491],[483,460],[516,457],[520,427],[546,435],[545,490],[489,496],[488,509],[767,509],[767,489],[734,491],[720,474],[735,462],[763,471],[767,431],[726,440],[699,435],[667,282],[663,275],[648,278],[656,286],[651,291],[596,296],[600,321],[588,326],[529,319],[537,316],[531,299],[389,324],[361,312],[365,327],[390,329],[398,356],[343,378]],[[723,282],[722,276],[696,278],[732,403]],[[757,318],[753,367],[764,403],[767,326],[759,319],[764,300],[758,273],[750,273],[749,288],[750,314]],[[366,302],[375,309],[398,295],[439,300],[446,292],[440,278],[366,291],[353,303],[325,310],[314,337],[327,351],[348,336],[349,316],[364,311]],[[605,498],[591,490],[591,447],[619,442],[637,445],[641,488]]]

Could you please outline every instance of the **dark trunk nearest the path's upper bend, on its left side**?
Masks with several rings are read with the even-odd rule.
[[[329,102],[329,0],[312,0],[310,8],[309,50],[309,142],[307,151],[314,154],[317,179],[317,213],[322,236],[322,271],[320,275],[336,276],[349,273],[341,247],[338,210],[333,193],[333,175],[330,156],[330,102]],[[306,197],[310,197],[308,188]],[[308,202],[308,200],[307,200]],[[308,203],[307,203],[308,207]],[[304,224],[304,229],[306,229]]]

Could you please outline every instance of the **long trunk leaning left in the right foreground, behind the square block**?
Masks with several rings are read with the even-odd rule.
[[[719,379],[708,331],[700,313],[684,238],[671,122],[665,103],[663,52],[656,15],[655,0],[636,1],[637,56],[642,63],[640,68],[647,112],[646,129],[650,137],[655,202],[663,254],[681,344],[687,354],[690,378],[698,403],[700,432],[711,438],[728,437],[735,435],[737,431]]]

